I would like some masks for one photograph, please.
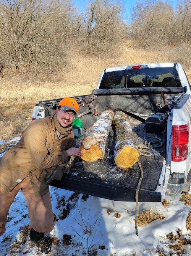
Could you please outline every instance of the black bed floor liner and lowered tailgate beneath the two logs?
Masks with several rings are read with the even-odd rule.
[[[138,121],[139,122],[139,121]],[[144,122],[131,124],[137,144],[144,143],[144,137],[153,136],[145,132]],[[160,148],[150,148],[152,156],[141,156],[140,162],[144,177],[139,190],[139,201],[161,201],[161,194],[155,192],[159,185],[163,160],[165,159],[165,137],[154,135],[163,142]],[[147,142],[153,139],[147,139]],[[78,143],[78,140],[77,140]],[[113,143],[110,152],[105,153],[104,161],[87,163],[77,160],[69,173],[64,174],[62,180],[53,181],[50,185],[72,190],[95,197],[117,201],[135,201],[135,192],[141,172],[136,163],[128,172],[120,170],[114,162]]]

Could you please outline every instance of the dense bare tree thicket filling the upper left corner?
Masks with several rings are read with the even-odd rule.
[[[1,62],[25,74],[68,66],[66,42],[78,26],[70,0],[3,0],[0,18]]]

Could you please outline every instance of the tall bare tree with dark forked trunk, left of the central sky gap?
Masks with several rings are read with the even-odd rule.
[[[121,39],[125,31],[122,10],[121,4],[112,0],[93,0],[87,5],[84,45],[88,54],[100,58],[108,46]]]

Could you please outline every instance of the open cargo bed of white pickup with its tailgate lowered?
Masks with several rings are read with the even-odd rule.
[[[174,63],[174,67],[176,64]],[[158,68],[158,66],[155,67]],[[170,67],[172,67],[172,64],[170,64]],[[178,67],[180,69],[180,66]],[[153,65],[151,71],[154,71],[152,68]],[[121,67],[119,70],[121,70]],[[176,73],[176,70],[174,72]],[[114,69],[113,75],[115,76]],[[128,121],[133,129],[134,139],[137,144],[144,144],[144,137],[146,136],[160,137],[162,140],[162,147],[152,147],[149,149],[152,154],[151,156],[141,155],[140,157],[144,177],[139,190],[139,201],[161,201],[162,195],[164,195],[164,189],[166,188],[165,185],[168,183],[167,179],[169,175],[168,172],[165,173],[166,162],[164,160],[166,160],[167,155],[166,148],[169,149],[170,146],[169,135],[171,131],[169,127],[172,125],[172,119],[169,119],[168,124],[166,122],[168,129],[165,128],[164,132],[160,134],[155,133],[155,128],[150,130],[152,133],[146,133],[144,119],[146,116],[149,117],[159,112],[166,113],[167,102],[171,106],[176,96],[183,92],[186,93],[187,89],[190,91],[189,86],[181,87],[177,85],[95,89],[92,94],[73,97],[79,104],[78,115],[81,121],[83,121],[84,132],[90,129],[97,120],[97,113],[101,114],[104,110],[112,109],[113,111],[123,111],[128,115]],[[45,117],[52,115],[56,111],[60,100],[61,98],[39,102],[36,105],[34,117],[42,117],[42,113],[44,113]],[[167,130],[168,136],[166,135]],[[106,150],[103,161],[97,160],[96,162],[87,163],[77,159],[74,167],[69,173],[63,175],[62,180],[54,180],[50,185],[110,200],[135,201],[136,188],[141,176],[139,165],[136,163],[128,170],[119,169],[114,162],[114,129],[112,129],[108,138],[111,140],[108,141],[108,150]],[[153,139],[147,139],[147,142],[151,140]],[[165,145],[167,140],[168,147]],[[79,145],[78,140],[76,140],[76,145]],[[159,182],[162,184],[159,184]]]

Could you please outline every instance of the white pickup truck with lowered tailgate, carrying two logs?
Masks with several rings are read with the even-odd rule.
[[[40,101],[32,120],[50,116],[60,99]],[[180,63],[108,68],[89,95],[74,96],[85,133],[106,109],[127,114],[137,144],[151,143],[141,155],[144,176],[139,201],[162,201],[189,192],[191,179],[191,86]],[[113,127],[112,127],[113,128]],[[114,162],[115,129],[108,136],[104,161],[76,160],[62,180],[50,185],[96,197],[135,201],[141,176],[138,164],[124,174]],[[158,142],[154,142],[157,140]],[[79,139],[76,139],[79,146]]]

